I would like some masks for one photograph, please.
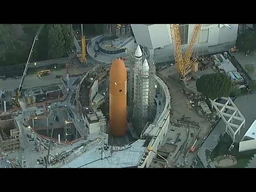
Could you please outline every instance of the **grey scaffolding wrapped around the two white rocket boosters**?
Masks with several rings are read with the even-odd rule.
[[[137,134],[142,132],[145,124],[148,121],[153,121],[152,118],[155,115],[155,101],[154,98],[156,96],[156,65],[154,62],[154,57],[150,56],[147,51],[143,52],[142,63],[147,59],[149,64],[149,72],[148,77],[144,77],[142,75],[142,70],[138,71],[138,76],[135,78],[136,82],[134,82],[134,64],[135,57],[134,53],[131,52],[130,56],[125,62],[127,71],[128,71],[128,116],[133,117],[129,119],[134,127],[134,130]],[[134,90],[134,84],[136,84],[136,90]],[[148,85],[148,90],[143,89],[142,86]],[[145,92],[146,91],[146,92]],[[148,95],[148,117],[142,116],[142,97]]]

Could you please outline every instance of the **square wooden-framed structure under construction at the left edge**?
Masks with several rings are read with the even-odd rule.
[[[0,150],[4,153],[20,149],[21,134],[12,114],[0,114]]]

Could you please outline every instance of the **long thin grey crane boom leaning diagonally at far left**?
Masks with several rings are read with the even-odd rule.
[[[15,100],[14,100],[14,105],[15,107],[18,107],[19,106],[19,100],[20,100],[20,95],[21,95],[21,90],[22,90],[22,87],[23,87],[23,84],[24,84],[24,79],[25,79],[25,76],[27,74],[27,70],[28,70],[28,64],[29,64],[29,60],[30,60],[30,57],[31,57],[31,54],[32,52],[34,51],[33,48],[34,48],[34,44],[36,42],[36,40],[38,40],[38,36],[40,34],[40,32],[42,31],[42,28],[44,27],[44,24],[42,24],[40,26],[40,28],[38,29],[38,31],[36,32],[36,36],[34,37],[34,42],[32,44],[32,47],[31,47],[31,50],[30,50],[30,53],[29,53],[29,56],[28,56],[28,60],[27,60],[27,63],[26,63],[26,66],[25,66],[25,69],[24,69],[24,72],[23,72],[23,75],[22,75],[22,79],[20,81],[20,86],[19,86],[19,89],[16,93],[16,96],[15,96]]]

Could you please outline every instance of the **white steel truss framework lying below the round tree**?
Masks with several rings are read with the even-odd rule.
[[[236,134],[240,134],[240,129],[245,126],[245,118],[242,113],[238,110],[234,102],[230,97],[222,97],[220,98],[222,101],[224,100],[225,104],[220,103],[220,100],[210,100],[213,107],[219,114],[219,117],[222,118],[224,123],[226,124],[226,132],[231,136],[233,143],[240,142],[236,140]]]

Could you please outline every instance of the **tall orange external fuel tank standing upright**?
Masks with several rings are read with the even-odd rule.
[[[124,62],[116,59],[109,72],[110,132],[113,136],[124,136],[127,111],[127,71]]]

